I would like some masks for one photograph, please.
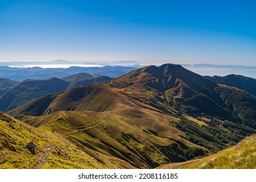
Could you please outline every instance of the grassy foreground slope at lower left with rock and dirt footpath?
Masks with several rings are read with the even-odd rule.
[[[61,133],[40,130],[0,112],[0,168],[134,168],[85,148]],[[33,141],[35,154],[27,144]]]

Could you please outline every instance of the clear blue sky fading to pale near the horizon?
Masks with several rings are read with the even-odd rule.
[[[0,0],[0,61],[256,66],[255,9],[252,0]]]

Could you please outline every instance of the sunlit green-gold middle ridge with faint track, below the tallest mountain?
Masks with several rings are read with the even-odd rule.
[[[176,118],[147,109],[60,111],[40,117],[23,115],[20,119],[42,130],[53,129],[137,168],[154,168],[207,153],[206,148],[189,142],[184,133],[173,127]]]

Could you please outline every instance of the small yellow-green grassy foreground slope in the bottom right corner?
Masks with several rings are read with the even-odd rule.
[[[245,138],[236,146],[194,161],[167,164],[159,168],[190,169],[256,169],[256,135]]]

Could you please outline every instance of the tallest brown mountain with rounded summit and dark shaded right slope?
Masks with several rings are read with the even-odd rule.
[[[139,101],[164,112],[174,108],[189,114],[207,113],[228,119],[235,117],[215,92],[216,83],[180,65],[148,66],[127,73],[111,84],[117,88],[124,86],[124,94],[131,93],[130,97],[137,97],[133,90],[141,92],[144,97],[137,97]]]

